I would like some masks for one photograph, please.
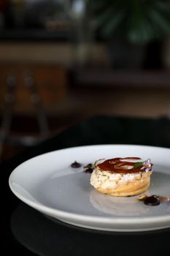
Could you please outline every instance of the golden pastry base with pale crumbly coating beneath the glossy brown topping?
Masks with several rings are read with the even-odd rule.
[[[96,166],[91,175],[90,184],[103,194],[128,197],[139,195],[150,187],[151,173],[152,170],[138,173],[111,173]]]

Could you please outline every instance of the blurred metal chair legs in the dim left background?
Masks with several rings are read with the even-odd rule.
[[[4,95],[4,111],[1,117],[0,127],[0,157],[5,143],[21,146],[34,146],[36,143],[44,140],[50,135],[45,110],[43,109],[41,97],[36,87],[34,77],[28,71],[23,72],[24,84],[28,88],[31,104],[34,105],[36,118],[39,124],[39,136],[23,136],[10,135],[12,118],[14,117],[15,91],[18,83],[14,72],[10,72],[7,76],[7,88]]]

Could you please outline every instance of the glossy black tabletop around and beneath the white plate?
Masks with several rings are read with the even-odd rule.
[[[83,145],[135,144],[170,147],[170,120],[95,116],[2,162],[1,251],[4,255],[160,255],[169,253],[170,229],[103,232],[48,219],[22,203],[8,179],[20,163],[45,152]],[[156,207],[156,206],[155,206]]]

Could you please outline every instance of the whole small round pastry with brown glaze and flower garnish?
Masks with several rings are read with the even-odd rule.
[[[139,195],[150,187],[152,163],[139,157],[101,159],[94,163],[90,184],[115,197]]]

